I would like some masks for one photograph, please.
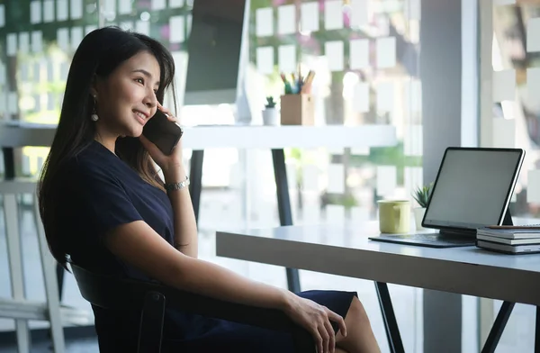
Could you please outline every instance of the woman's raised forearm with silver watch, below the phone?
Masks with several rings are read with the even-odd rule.
[[[183,182],[186,174],[184,167],[176,167],[174,170],[164,172],[164,176],[166,184],[173,184]],[[189,188],[172,190],[167,192],[167,195],[173,205],[175,248],[189,257],[197,258],[199,251],[197,222]]]

